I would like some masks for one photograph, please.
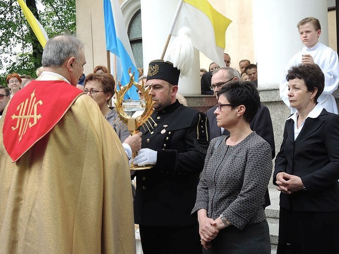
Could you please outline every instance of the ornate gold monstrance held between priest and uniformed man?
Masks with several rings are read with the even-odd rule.
[[[128,70],[128,73],[130,75],[130,82],[127,85],[121,85],[120,82],[118,81],[118,85],[120,90],[117,90],[115,87],[115,97],[116,97],[116,101],[114,102],[115,104],[115,110],[119,115],[119,118],[127,125],[128,130],[130,131],[131,135],[136,133],[136,130],[139,129],[140,126],[142,126],[143,128],[145,128],[144,126],[146,126],[148,129],[150,126],[151,128],[152,125],[149,122],[149,119],[153,120],[151,118],[151,115],[153,113],[153,104],[154,102],[152,101],[152,94],[149,93],[149,87],[144,87],[144,84],[142,82],[141,85],[139,85],[138,83],[136,83],[134,81],[134,73],[131,73],[131,69]],[[137,111],[140,108],[140,104],[139,103],[126,103],[126,101],[124,102],[124,96],[126,94],[126,92],[132,87],[132,85],[135,85],[142,93],[142,96],[145,98],[145,102],[144,104],[142,104],[142,107],[144,107],[144,110],[142,112],[142,114],[139,116],[137,116],[136,118],[132,118],[129,114],[127,114],[124,109],[123,109],[123,105],[128,104],[128,106],[130,107],[129,110],[130,111]],[[133,101],[132,101],[133,102]],[[133,110],[133,108],[131,107],[136,107],[136,110]],[[132,109],[132,110],[131,110]],[[132,154],[132,163],[130,166],[131,170],[142,170],[142,169],[151,169],[154,165],[144,165],[144,166],[137,166],[133,164],[133,159],[136,156],[136,153]]]

